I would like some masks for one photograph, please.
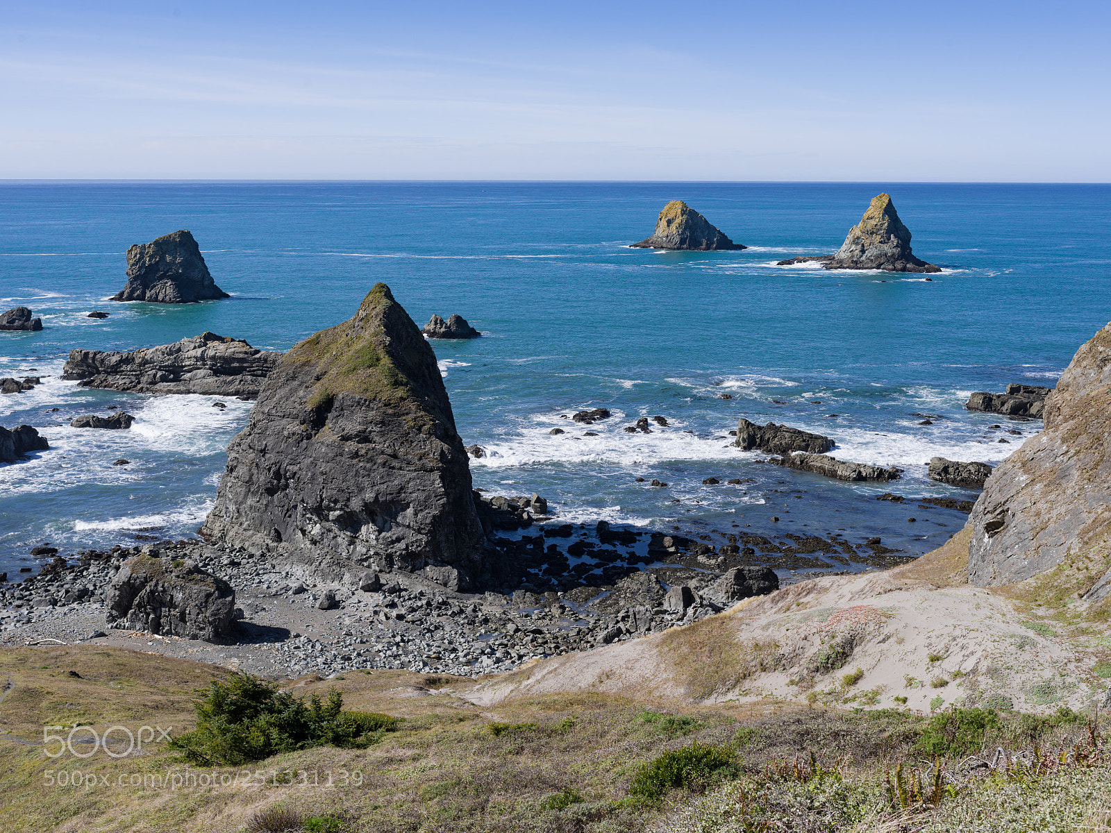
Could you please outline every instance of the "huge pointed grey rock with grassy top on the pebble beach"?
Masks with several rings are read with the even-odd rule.
[[[202,534],[337,580],[402,570],[468,588],[483,535],[467,461],[432,348],[377,283],[271,372]]]

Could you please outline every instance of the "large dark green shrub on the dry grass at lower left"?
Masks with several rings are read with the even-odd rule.
[[[313,694],[306,704],[250,674],[213,682],[193,702],[193,711],[197,729],[169,745],[200,766],[240,766],[312,746],[366,749],[398,724],[388,714],[343,711],[338,691],[328,695],[328,703]]]

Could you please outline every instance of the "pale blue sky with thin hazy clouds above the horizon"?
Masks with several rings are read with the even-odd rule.
[[[0,0],[0,179],[1108,182],[1109,23],[1070,0]]]

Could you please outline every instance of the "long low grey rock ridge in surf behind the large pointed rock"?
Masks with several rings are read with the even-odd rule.
[[[173,344],[129,353],[71,350],[62,379],[81,388],[131,393],[204,393],[254,399],[281,353],[242,339],[203,332]]]

